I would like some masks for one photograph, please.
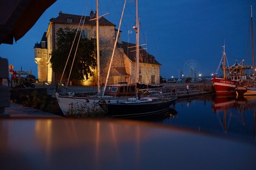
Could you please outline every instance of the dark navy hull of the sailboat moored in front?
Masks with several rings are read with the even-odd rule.
[[[141,117],[167,111],[177,98],[166,101],[135,101],[119,103],[100,103],[100,107],[112,117]]]

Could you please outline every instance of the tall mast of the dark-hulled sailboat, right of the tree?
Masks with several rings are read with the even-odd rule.
[[[136,82],[139,82],[139,9],[136,0]]]

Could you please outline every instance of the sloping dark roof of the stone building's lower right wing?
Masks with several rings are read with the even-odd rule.
[[[127,43],[122,42],[118,43],[117,47],[124,49],[124,53],[132,62],[135,62],[136,52],[135,52],[135,46],[136,44],[133,43]],[[134,48],[128,48],[128,47],[134,47]],[[150,64],[159,64],[159,62],[156,61],[155,57],[151,54],[147,53],[145,49],[140,47],[140,63],[150,63]]]

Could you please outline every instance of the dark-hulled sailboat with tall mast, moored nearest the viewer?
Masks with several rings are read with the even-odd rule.
[[[99,103],[100,107],[104,109],[112,117],[139,117],[149,116],[152,114],[159,114],[167,111],[171,104],[176,101],[176,97],[164,98],[161,91],[150,91],[140,94],[140,80],[139,80],[139,17],[138,17],[138,1],[136,0],[136,26],[133,27],[136,31],[136,98],[128,98],[123,102],[116,103]],[[145,95],[147,94],[147,95]],[[150,95],[148,95],[150,94]]]

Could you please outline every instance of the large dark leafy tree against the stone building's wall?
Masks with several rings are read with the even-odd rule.
[[[60,28],[58,29],[56,35],[57,35],[57,48],[52,51],[50,54],[50,62],[52,64],[52,70],[58,74],[61,75],[63,73],[63,70],[66,65],[66,61],[68,59],[68,55],[70,53],[70,58],[68,59],[68,63],[65,69],[64,77],[68,78],[68,75],[71,71],[71,66],[73,62],[73,58],[75,56],[75,51],[77,47],[77,42],[79,36],[74,40],[74,37],[76,35],[76,29],[70,29],[66,27],[65,29]],[[80,35],[80,32],[77,33],[77,35]],[[73,49],[72,43],[73,44]],[[88,38],[80,38],[80,41],[78,42],[78,48],[75,56],[75,61],[73,63],[72,71],[70,80],[83,80],[88,79],[89,76],[93,76],[92,69],[96,68],[96,41],[95,39],[88,39]],[[71,51],[70,51],[71,49]]]

